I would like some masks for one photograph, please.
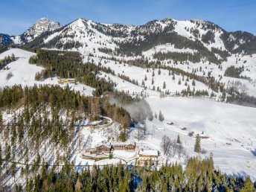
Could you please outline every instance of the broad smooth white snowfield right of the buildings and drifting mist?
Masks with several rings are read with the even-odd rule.
[[[188,132],[208,136],[201,140],[205,155],[214,154],[215,167],[228,174],[252,176],[256,179],[256,109],[217,103],[212,100],[181,97],[149,97],[147,101],[153,112],[163,112],[164,122],[147,121],[147,129],[164,127],[164,131],[155,129],[155,137],[149,136],[144,142],[160,150],[161,137],[167,135],[176,139],[179,134],[189,156],[194,156],[195,138]],[[173,122],[173,126],[166,123]],[[182,130],[180,127],[187,127]],[[202,134],[203,132],[203,134]],[[178,159],[173,159],[176,161]],[[248,167],[248,162],[252,165]]]

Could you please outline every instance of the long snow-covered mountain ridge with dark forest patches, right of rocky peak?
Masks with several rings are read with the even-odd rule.
[[[230,54],[256,53],[256,37],[251,33],[227,32],[212,22],[199,19],[177,21],[167,18],[134,26],[101,24],[80,18],[63,28],[54,25],[53,29],[55,31],[41,36],[36,33],[33,37],[37,38],[33,41],[27,36],[28,47],[76,50],[100,57],[219,64]],[[28,31],[25,34],[33,34]]]

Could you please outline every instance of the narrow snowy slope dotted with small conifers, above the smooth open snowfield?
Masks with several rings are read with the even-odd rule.
[[[84,59],[85,61],[88,61],[88,58],[86,57]],[[106,79],[110,78],[113,82],[118,83],[118,90],[119,88],[124,89],[124,87],[127,87],[127,90],[129,90],[130,93],[132,93],[134,90],[136,90],[136,93],[140,93],[141,90],[146,87],[147,91],[149,92],[148,94],[150,95],[156,95],[156,92],[150,92],[153,90],[153,86],[155,86],[155,89],[159,87],[162,92],[168,91],[170,92],[171,95],[175,94],[176,92],[181,92],[184,89],[187,89],[188,86],[190,86],[190,89],[195,91],[202,91],[202,90],[207,90],[209,94],[211,92],[214,92],[213,90],[209,89],[208,86],[205,86],[205,84],[195,81],[196,85],[192,85],[192,80],[186,81],[187,77],[178,74],[174,74],[175,79],[173,80],[173,74],[169,74],[168,70],[161,69],[161,74],[159,74],[159,69],[153,69],[153,68],[140,68],[136,67],[134,65],[128,65],[127,63],[116,63],[113,60],[104,60],[104,59],[99,59],[97,57],[90,57],[89,61],[95,62],[95,64],[101,63],[101,65],[105,66],[106,68],[111,68],[113,71],[115,71],[115,77],[112,77],[110,74],[106,74],[102,77],[106,76]],[[148,72],[147,72],[148,70]],[[154,71],[154,76],[153,76],[153,71]],[[122,74],[124,76],[127,76],[130,78],[130,80],[135,80],[138,82],[138,86],[135,86],[135,89],[129,89],[129,86],[127,83],[124,83],[124,80],[121,80],[121,78],[116,77],[118,74]],[[147,77],[147,80],[145,80],[145,77]],[[153,84],[152,84],[153,80]],[[181,84],[179,85],[179,80],[181,81]],[[144,81],[144,86],[142,85],[142,82]],[[122,83],[123,82],[123,83]],[[188,83],[188,86],[185,86],[185,82]],[[164,89],[164,83],[166,85],[166,88]],[[132,83],[129,83],[132,84]],[[139,89],[137,89],[140,87]],[[140,90],[138,92],[138,90]],[[214,92],[215,93],[215,92]],[[215,93],[217,94],[217,93]],[[158,94],[157,94],[158,95]]]

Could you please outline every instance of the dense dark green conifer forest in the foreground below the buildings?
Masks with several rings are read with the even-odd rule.
[[[57,164],[42,164],[39,173],[25,186],[16,186],[16,191],[255,191],[249,177],[227,176],[214,170],[212,157],[188,159],[185,170],[175,163],[164,164],[159,170],[150,163],[143,167],[95,165],[77,172],[78,168],[68,161],[61,170]]]

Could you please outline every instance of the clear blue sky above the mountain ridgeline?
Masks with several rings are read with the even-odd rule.
[[[205,19],[226,31],[256,34],[256,0],[1,0],[0,33],[18,35],[41,18],[62,25],[79,17],[142,25],[153,19]]]

